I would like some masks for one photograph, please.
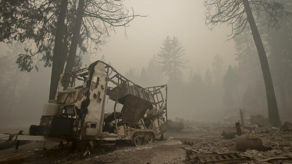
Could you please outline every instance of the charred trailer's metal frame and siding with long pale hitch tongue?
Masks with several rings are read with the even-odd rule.
[[[100,62],[103,64],[102,72],[100,71],[101,69],[96,70],[96,67]],[[92,81],[93,81],[93,75],[94,77],[97,77],[97,81],[95,83],[95,89],[98,89],[97,86],[99,86],[99,75],[96,74],[97,71],[100,71],[99,73],[102,73],[102,78],[103,83],[105,86],[100,86],[100,88],[103,90],[102,96],[102,108],[101,108],[101,115],[100,115],[100,123],[98,127],[98,134],[95,136],[85,136],[85,127],[86,127],[86,122],[85,122],[85,117],[88,112],[88,105],[90,104],[90,91],[92,91]],[[83,85],[81,86],[76,86],[76,79],[81,80],[83,82]],[[102,124],[104,122],[104,107],[105,107],[105,97],[110,91],[113,89],[113,87],[107,86],[108,82],[111,82],[114,84],[115,87],[121,87],[122,83],[126,83],[128,85],[128,92],[130,93],[129,88],[133,90],[135,94],[135,89],[138,90],[138,95],[140,96],[140,91],[142,90],[141,94],[147,94],[148,96],[143,96],[143,98],[147,99],[147,102],[150,104],[155,105],[156,109],[159,109],[159,112],[156,113],[155,115],[147,116],[147,117],[142,117],[143,118],[148,118],[150,119],[150,125],[151,128],[146,128],[145,125],[144,129],[138,129],[135,124],[132,124],[134,129],[128,129],[126,128],[126,124],[124,121],[124,114],[121,112],[116,111],[116,105],[119,103],[118,100],[115,101],[114,104],[114,120],[116,124],[116,131],[117,134],[115,136],[103,136],[102,133]],[[67,86],[67,87],[66,87]],[[104,87],[104,88],[103,88]],[[83,88],[83,89],[82,89]],[[162,94],[162,88],[165,88],[165,93],[166,97],[164,99],[163,94]],[[79,89],[79,90],[77,90]],[[136,91],[137,91],[136,90]],[[59,95],[60,94],[60,95]],[[75,97],[74,97],[75,94]],[[101,93],[100,93],[101,95]],[[118,93],[119,95],[119,93]],[[160,98],[159,98],[160,95]],[[77,98],[76,98],[77,96]],[[82,98],[80,98],[81,96]],[[94,95],[91,95],[94,96]],[[71,99],[70,99],[71,98]],[[152,100],[149,100],[152,99]],[[8,140],[15,140],[17,143],[19,143],[20,140],[37,140],[37,141],[67,141],[67,142],[74,142],[74,141],[81,141],[81,140],[94,140],[94,139],[103,139],[103,140],[108,140],[108,141],[115,141],[118,139],[132,139],[134,134],[139,133],[140,135],[144,134],[149,134],[152,133],[155,137],[155,135],[161,134],[164,132],[165,126],[162,128],[162,125],[166,125],[167,127],[167,121],[163,121],[164,123],[160,126],[159,125],[159,116],[162,117],[163,114],[166,116],[167,120],[167,85],[162,85],[162,86],[154,86],[154,87],[147,87],[147,88],[142,88],[138,84],[134,83],[133,81],[127,79],[123,75],[121,75],[118,71],[116,71],[112,66],[102,62],[102,61],[96,61],[93,62],[92,64],[89,65],[89,67],[79,69],[70,73],[64,73],[60,75],[59,78],[59,83],[58,83],[58,88],[57,88],[57,93],[55,96],[55,101],[57,104],[60,104],[59,106],[59,116],[66,116],[66,117],[75,117],[75,122],[73,124],[73,129],[77,129],[76,132],[72,134],[71,136],[63,136],[63,135],[53,135],[53,136],[34,136],[34,135],[9,135],[9,134],[0,134],[0,139],[8,139]],[[78,103],[77,103],[78,102]],[[80,103],[80,104],[79,104]],[[101,102],[99,102],[101,103]],[[76,105],[78,104],[78,106]],[[70,107],[71,106],[71,107]],[[72,107],[73,106],[73,107]],[[66,108],[65,108],[66,107]],[[78,108],[77,108],[78,107]],[[99,106],[100,107],[100,106]],[[71,110],[69,113],[65,110]],[[162,112],[161,112],[162,110]],[[62,111],[62,112],[61,112]],[[55,116],[55,115],[53,115]],[[124,134],[125,136],[121,136],[118,133],[118,126],[116,122],[116,118],[122,118],[123,125],[124,125]],[[152,118],[157,118],[158,120],[158,127],[155,127],[154,129],[154,120],[153,123],[151,122]],[[72,119],[72,118],[71,118]],[[141,119],[141,118],[140,118]],[[164,118],[163,118],[164,119]],[[127,126],[130,126],[131,124],[127,124]],[[137,124],[136,124],[137,125]],[[139,124],[138,124],[139,125]],[[157,131],[158,130],[158,131]],[[128,132],[127,132],[128,131]],[[131,131],[131,133],[130,133]],[[18,146],[16,146],[16,149],[18,149]]]

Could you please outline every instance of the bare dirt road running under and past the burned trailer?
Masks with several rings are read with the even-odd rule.
[[[117,143],[115,146],[91,148],[90,155],[83,156],[86,147],[70,151],[70,144],[57,149],[57,142],[29,142],[19,147],[18,154],[29,156],[29,163],[188,163],[187,154],[181,148],[181,139],[216,136],[218,132],[167,131],[166,140],[142,144],[138,147]],[[28,152],[29,151],[29,152]],[[1,155],[14,153],[14,147],[1,150]]]

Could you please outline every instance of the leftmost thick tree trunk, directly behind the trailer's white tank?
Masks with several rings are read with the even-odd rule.
[[[52,62],[52,74],[51,74],[51,86],[50,86],[50,95],[49,100],[55,99],[58,79],[60,76],[60,61],[62,55],[62,39],[64,34],[64,22],[67,12],[68,0],[61,1],[60,12],[58,16],[57,28],[55,33],[55,46],[53,50],[53,62]]]

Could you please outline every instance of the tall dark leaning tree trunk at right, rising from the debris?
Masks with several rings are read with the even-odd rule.
[[[274,86],[272,82],[271,72],[269,68],[269,63],[267,60],[267,55],[265,52],[265,48],[263,46],[263,42],[260,38],[260,34],[258,32],[258,27],[256,26],[256,22],[253,18],[253,13],[251,12],[251,8],[249,6],[248,0],[242,0],[247,16],[247,20],[251,27],[251,32],[253,34],[253,40],[255,41],[256,48],[258,50],[258,56],[260,58],[260,65],[263,71],[263,77],[265,81],[266,95],[267,95],[267,104],[268,104],[268,113],[269,113],[269,122],[270,125],[274,127],[280,127],[280,117],[279,111],[277,107],[277,100],[274,92]]]

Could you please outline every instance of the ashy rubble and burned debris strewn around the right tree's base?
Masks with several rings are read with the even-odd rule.
[[[217,124],[214,128],[213,123],[204,123],[206,131],[218,131],[221,127],[221,132],[226,129],[235,130],[234,137],[226,138],[226,134],[221,133],[218,136],[200,136],[195,139],[183,139],[183,149],[187,151],[191,162],[209,163],[209,158],[212,163],[223,163],[222,154],[225,154],[226,159],[242,162],[233,155],[226,155],[226,153],[238,153],[239,156],[246,158],[248,163],[277,163],[277,162],[291,162],[292,159],[292,130],[287,128],[286,124],[282,128],[259,127],[259,125],[251,125],[241,127],[242,134],[237,135],[236,128],[233,126],[227,127],[226,123]],[[192,125],[194,130],[204,130],[202,125]],[[232,132],[234,133],[234,131]],[[230,156],[230,157],[228,157]],[[213,158],[212,158],[213,157]],[[217,160],[214,160],[217,159]],[[235,159],[235,160],[234,160]],[[227,161],[228,163],[228,161]]]

